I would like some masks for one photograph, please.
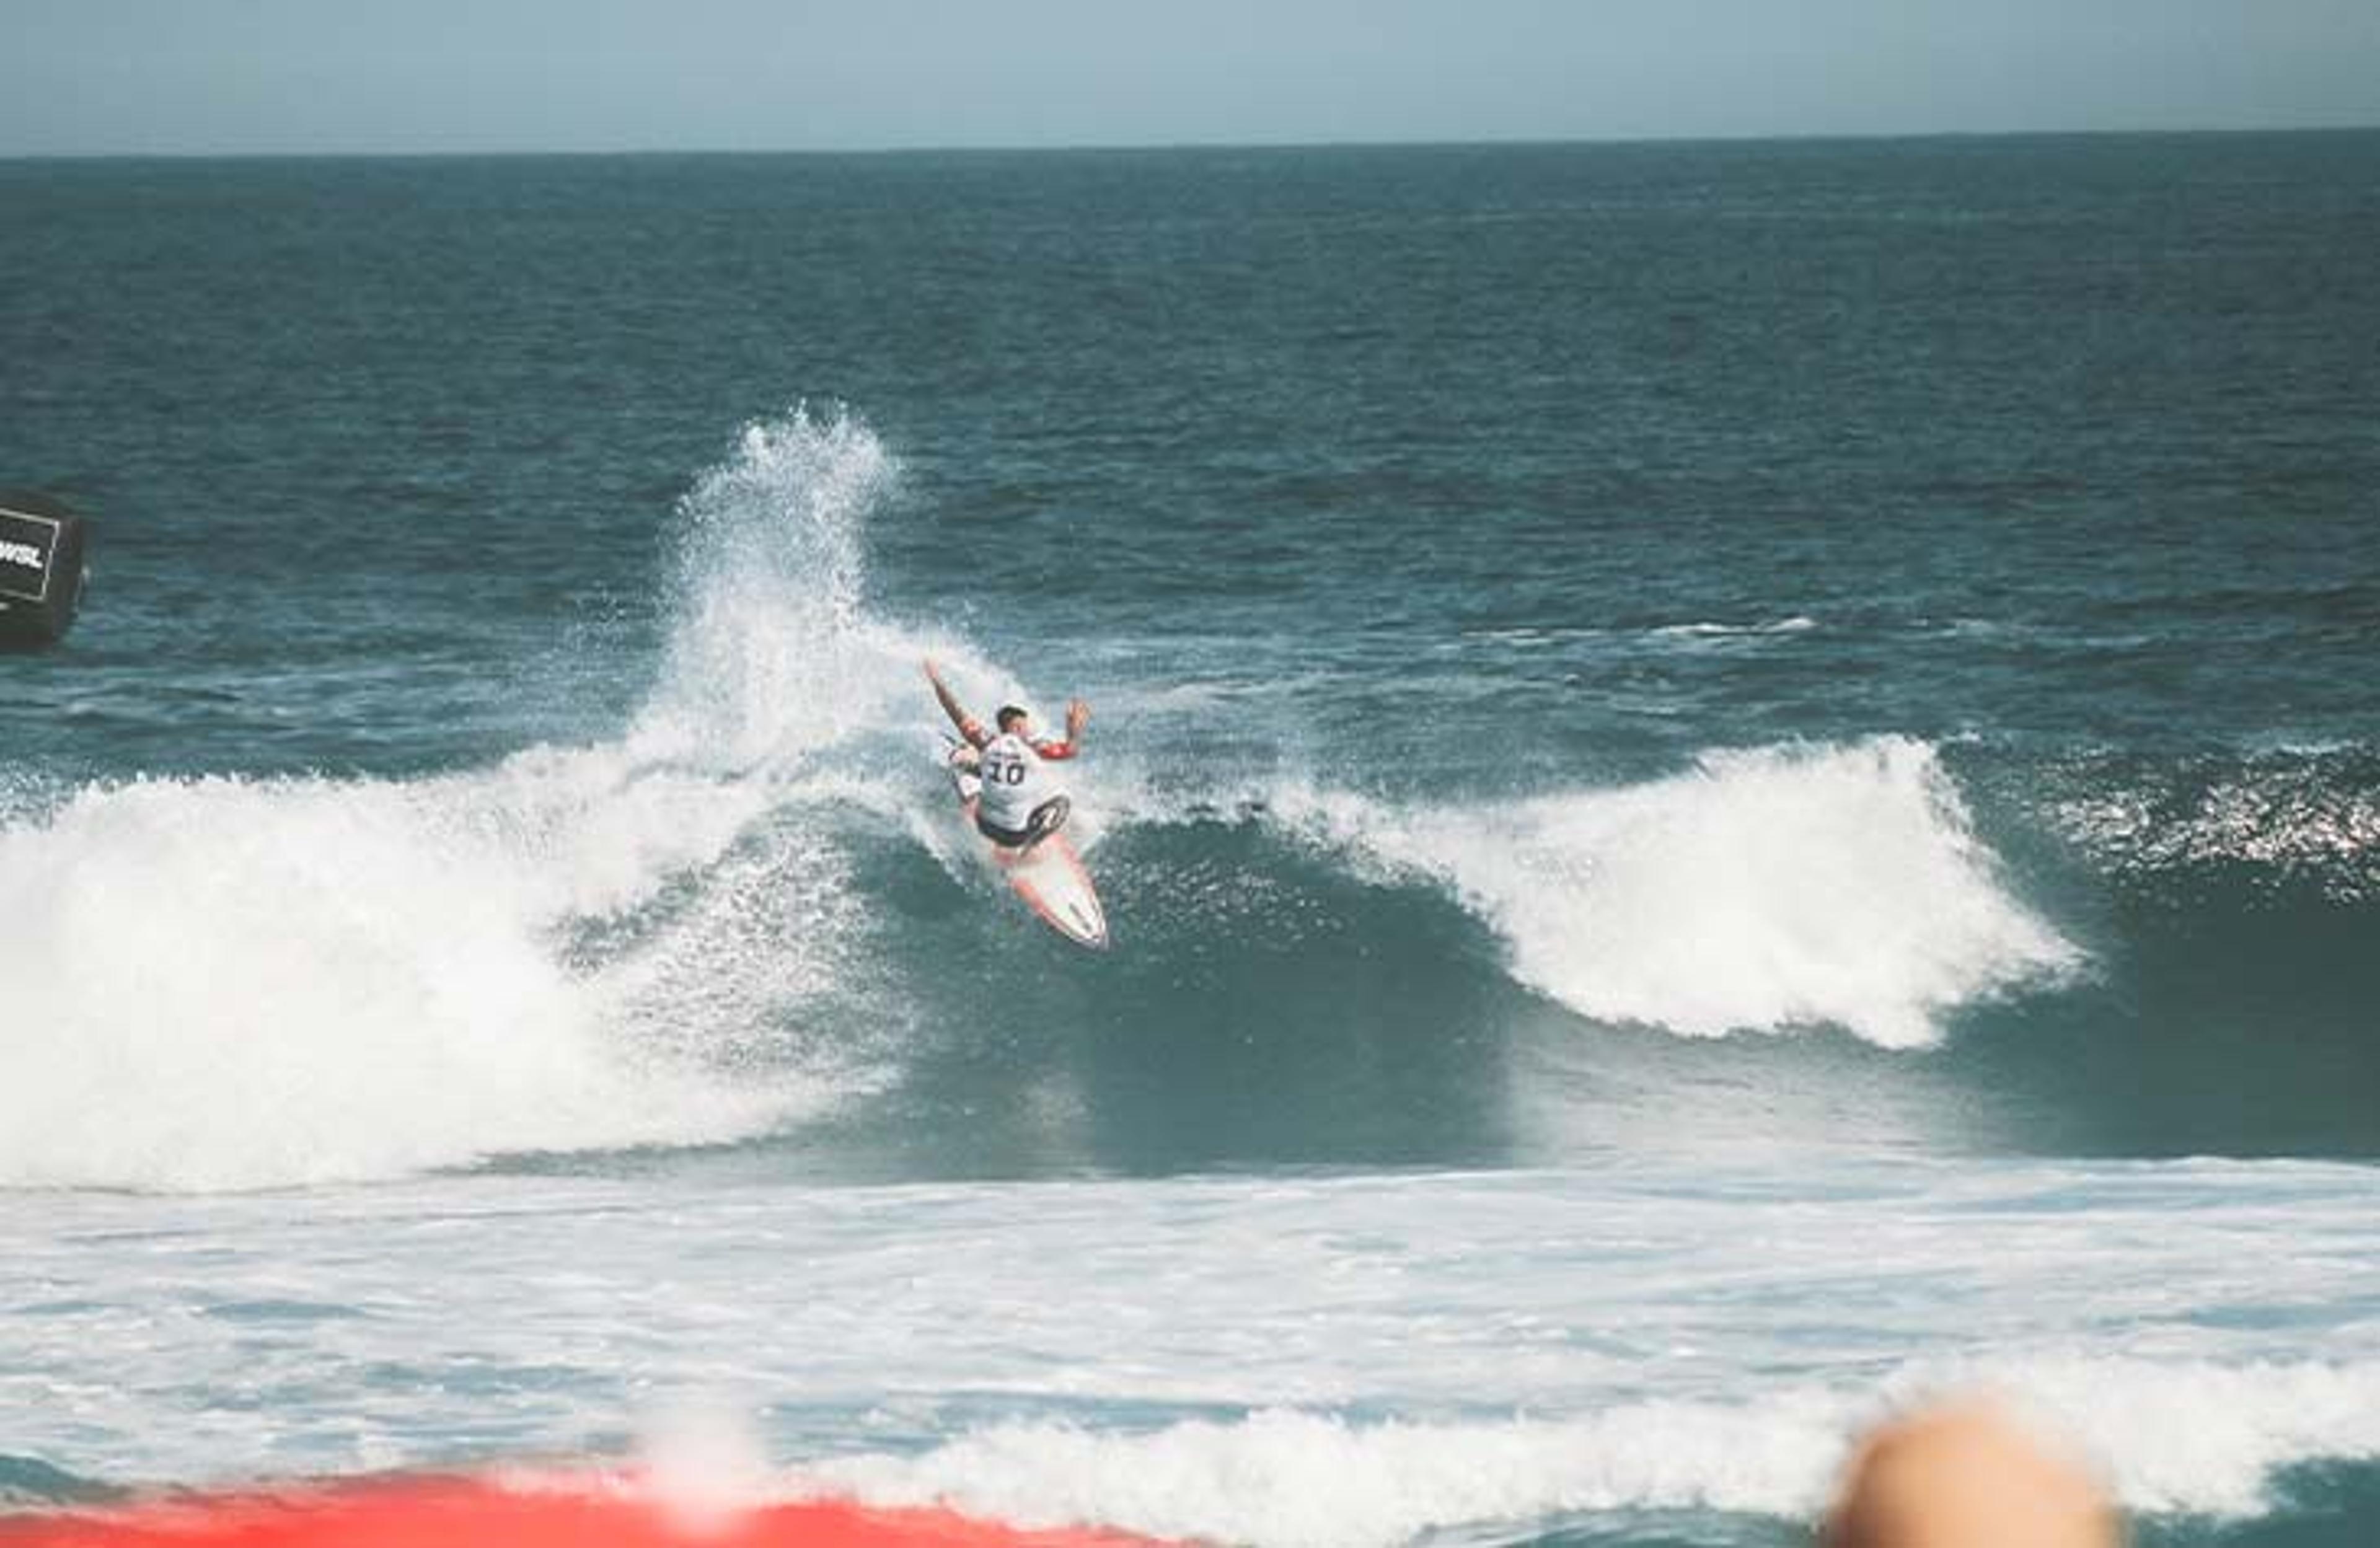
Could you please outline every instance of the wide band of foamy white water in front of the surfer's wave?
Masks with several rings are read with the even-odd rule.
[[[1844,1156],[493,1175],[300,1210],[0,1191],[26,1310],[0,1320],[0,1412],[10,1451],[117,1481],[616,1458],[643,1429],[685,1508],[857,1491],[1388,1548],[1578,1510],[1799,1515],[1875,1417],[1985,1391],[2135,1510],[2259,1515],[2278,1470],[2380,1458],[2373,1182]]]

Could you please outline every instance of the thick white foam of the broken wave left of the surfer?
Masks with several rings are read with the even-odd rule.
[[[143,782],[0,832],[0,1182],[226,1189],[716,1139],[774,1101],[638,1058],[457,789]]]

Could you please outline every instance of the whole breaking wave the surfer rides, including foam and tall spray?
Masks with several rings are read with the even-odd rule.
[[[900,506],[857,419],[750,426],[678,504],[652,685],[609,737],[409,780],[19,782],[0,1182],[738,1141],[857,1175],[2380,1149],[2337,1080],[2380,1058],[2380,970],[2340,977],[2373,920],[2361,751],[1885,735],[1526,794],[1340,751],[1216,778],[1183,737],[1219,709],[1295,737],[1307,694],[1204,654],[1123,690],[1147,730],[1100,725],[1071,775],[1119,932],[1076,958],[933,770],[919,656],[976,701],[1031,690],[873,594]],[[1821,628],[1790,623],[1742,637]]]

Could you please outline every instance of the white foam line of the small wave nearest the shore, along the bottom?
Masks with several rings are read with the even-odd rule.
[[[1247,1548],[1395,1548],[1454,1527],[1609,1510],[1814,1517],[1859,1434],[1894,1408],[1973,1393],[2009,1403],[2044,1443],[2078,1451],[2132,1512],[2249,1517],[2268,1510],[2282,1465],[2380,1455],[2380,1365],[2018,1358],[1911,1365],[1878,1386],[1628,1401],[1559,1420],[1264,1410],[1154,1431],[1000,1424],[921,1455],[802,1467],[781,1491]]]

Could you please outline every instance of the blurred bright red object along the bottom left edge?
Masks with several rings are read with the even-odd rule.
[[[1095,1527],[1021,1531],[950,1510],[757,1505],[690,1519],[652,1498],[509,1491],[471,1479],[178,1496],[0,1515],[0,1548],[1152,1548]]]

